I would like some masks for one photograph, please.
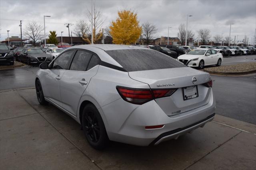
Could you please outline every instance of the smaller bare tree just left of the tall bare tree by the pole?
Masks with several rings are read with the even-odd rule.
[[[86,38],[86,33],[88,32],[88,30],[89,27],[86,21],[78,20],[76,21],[73,32],[77,37],[80,37],[82,39],[83,43],[85,43],[84,39]]]

